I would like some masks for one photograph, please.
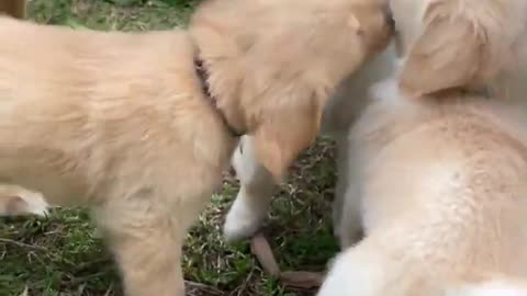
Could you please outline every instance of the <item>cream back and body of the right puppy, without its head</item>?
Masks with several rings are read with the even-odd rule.
[[[344,252],[318,296],[527,295],[525,118],[497,98],[377,84],[349,135]]]

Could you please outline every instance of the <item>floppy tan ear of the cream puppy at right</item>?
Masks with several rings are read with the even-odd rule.
[[[480,82],[476,77],[486,62],[485,27],[451,10],[444,1],[427,8],[424,30],[411,45],[400,76],[404,92],[418,96]]]

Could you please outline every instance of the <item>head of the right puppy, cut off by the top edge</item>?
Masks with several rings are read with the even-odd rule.
[[[391,7],[406,57],[400,84],[412,95],[491,83],[512,67],[527,21],[523,0],[391,0]]]

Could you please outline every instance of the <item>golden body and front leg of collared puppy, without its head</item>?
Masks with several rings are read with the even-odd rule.
[[[182,295],[187,228],[235,145],[202,92],[190,36],[10,19],[0,36],[1,182],[96,209],[130,295]]]

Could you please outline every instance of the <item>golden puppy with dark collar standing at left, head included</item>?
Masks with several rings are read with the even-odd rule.
[[[0,182],[87,205],[132,296],[183,295],[181,246],[239,135],[278,180],[391,36],[383,0],[217,0],[190,31],[0,19]]]

